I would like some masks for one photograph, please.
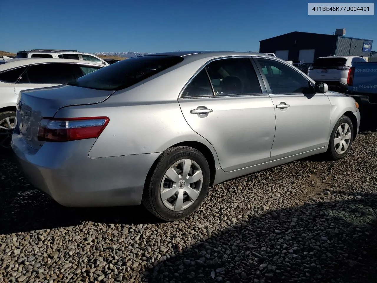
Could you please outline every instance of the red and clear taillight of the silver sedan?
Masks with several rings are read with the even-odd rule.
[[[40,141],[72,141],[98,138],[109,123],[108,117],[44,118],[38,128]]]

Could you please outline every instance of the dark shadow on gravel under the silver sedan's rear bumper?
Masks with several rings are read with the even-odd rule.
[[[156,223],[142,206],[67,208],[35,189],[18,169],[11,151],[0,150],[0,234],[95,223]]]

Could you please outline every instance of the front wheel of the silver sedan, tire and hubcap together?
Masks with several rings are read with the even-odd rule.
[[[354,129],[352,121],[347,116],[342,116],[331,132],[327,153],[333,160],[340,160],[348,154],[351,149]]]

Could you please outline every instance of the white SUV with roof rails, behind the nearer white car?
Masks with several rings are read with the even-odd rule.
[[[16,58],[59,58],[59,59],[74,59],[84,60],[90,62],[101,63],[109,66],[105,60],[102,60],[96,55],[78,52],[77,50],[58,50],[58,49],[32,49],[29,51],[18,51]]]

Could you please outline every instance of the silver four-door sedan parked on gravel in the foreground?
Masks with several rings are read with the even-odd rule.
[[[327,152],[345,157],[358,104],[276,57],[170,52],[21,91],[12,148],[64,206],[141,203],[187,217],[225,180]]]

